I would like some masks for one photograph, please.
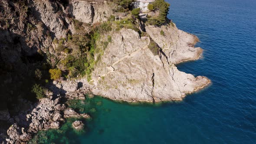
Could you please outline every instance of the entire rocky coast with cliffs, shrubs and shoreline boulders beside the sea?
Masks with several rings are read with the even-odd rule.
[[[84,132],[95,108],[70,101],[174,101],[210,84],[177,69],[203,50],[166,13],[156,25],[112,0],[3,0],[0,10],[3,144],[37,143],[36,133],[67,123]],[[148,15],[157,20],[159,10]]]

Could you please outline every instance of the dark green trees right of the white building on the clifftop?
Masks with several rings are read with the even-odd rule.
[[[159,16],[148,19],[148,24],[161,26],[166,23],[170,4],[164,0],[155,0],[152,5],[154,9],[159,10]]]

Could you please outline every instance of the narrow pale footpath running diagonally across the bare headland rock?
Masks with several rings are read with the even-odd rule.
[[[103,74],[103,75],[100,75],[99,76],[99,78],[101,78],[101,77],[103,77],[103,76],[106,76],[106,75],[108,75],[109,73],[111,73],[111,72],[114,72],[114,67],[113,66],[115,66],[118,62],[121,62],[122,60],[124,60],[124,59],[126,59],[126,58],[130,58],[130,57],[133,57],[133,56],[135,56],[138,52],[140,52],[141,50],[143,50],[143,49],[147,49],[148,48],[148,46],[149,46],[149,43],[150,43],[150,39],[149,39],[149,37],[147,37],[148,38],[148,44],[147,44],[147,46],[144,46],[143,48],[139,48],[138,50],[136,50],[135,52],[132,52],[132,53],[130,53],[130,54],[127,54],[127,55],[125,55],[124,57],[122,57],[121,59],[118,59],[116,62],[114,62],[111,66],[108,66],[107,67],[107,69],[108,70],[110,70],[108,73],[105,73],[105,74]],[[99,79],[97,79],[97,80],[99,80]],[[93,81],[93,79],[91,80],[91,81]],[[90,81],[90,82],[91,82]]]

